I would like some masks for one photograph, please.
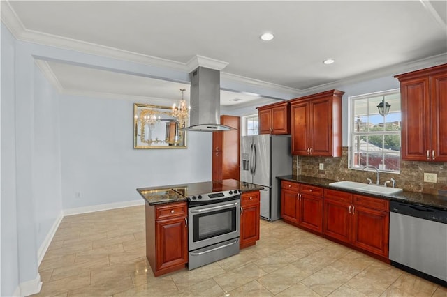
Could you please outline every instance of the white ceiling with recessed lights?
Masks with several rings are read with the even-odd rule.
[[[275,96],[265,89],[293,98],[335,83],[402,73],[411,63],[433,57],[447,63],[447,1],[1,4],[2,21],[19,40],[185,73],[195,56],[228,63],[221,70],[221,81],[228,81],[221,105],[268,102]],[[264,32],[274,33],[274,39],[261,41]],[[327,58],[335,63],[323,64]],[[178,100],[179,89],[189,89],[188,79],[179,82],[166,75],[144,77],[57,61],[38,65],[51,73],[62,93],[163,102]],[[261,91],[252,91],[256,86]],[[184,95],[189,99],[187,91]]]

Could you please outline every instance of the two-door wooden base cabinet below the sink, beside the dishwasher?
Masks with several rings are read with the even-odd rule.
[[[388,259],[388,200],[326,189],[323,213],[325,236]]]

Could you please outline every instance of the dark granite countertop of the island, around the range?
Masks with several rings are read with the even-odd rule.
[[[183,183],[179,185],[138,188],[137,191],[149,205],[156,205],[186,201],[188,188],[203,188],[204,185],[205,188],[206,186],[210,188],[210,192],[212,190],[220,191],[227,188],[231,190],[240,190],[241,192],[249,192],[262,190],[264,188],[262,185],[256,185],[254,183],[245,183],[243,181],[236,181],[235,179],[225,179],[223,181],[210,181],[204,183]]]

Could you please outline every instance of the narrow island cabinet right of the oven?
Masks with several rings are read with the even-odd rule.
[[[259,191],[243,192],[241,195],[240,248],[255,245],[259,240],[260,197]]]

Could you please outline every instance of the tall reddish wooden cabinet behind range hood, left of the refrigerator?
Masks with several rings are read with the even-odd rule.
[[[239,180],[240,117],[223,115],[221,124],[236,130],[212,133],[212,180]]]

